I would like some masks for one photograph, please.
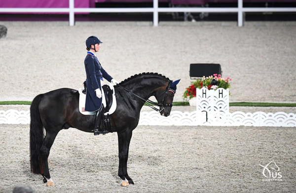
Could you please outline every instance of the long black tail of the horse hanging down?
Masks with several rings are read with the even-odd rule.
[[[43,162],[40,148],[43,143],[43,124],[39,114],[39,103],[43,94],[36,96],[30,107],[31,124],[30,124],[30,163],[31,172],[43,174]]]

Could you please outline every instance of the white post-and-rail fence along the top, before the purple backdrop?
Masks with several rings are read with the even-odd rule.
[[[245,12],[296,12],[296,7],[280,7],[280,8],[265,8],[265,7],[243,7],[243,0],[238,0],[238,6],[233,8],[198,8],[198,7],[169,7],[159,8],[158,0],[153,0],[152,8],[74,8],[74,0],[69,0],[69,8],[0,8],[0,13],[11,12],[66,12],[69,13],[69,25],[74,26],[74,13],[92,12],[92,13],[153,13],[153,26],[158,26],[159,12],[216,12],[216,13],[238,13],[237,23],[239,27],[243,26]]]

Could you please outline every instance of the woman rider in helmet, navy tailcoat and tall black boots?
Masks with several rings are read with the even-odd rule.
[[[95,119],[94,135],[100,134],[100,125],[102,120],[103,109],[105,108],[102,104],[102,85],[103,77],[112,83],[112,85],[118,84],[102,67],[96,52],[100,50],[101,43],[103,43],[98,37],[90,36],[86,39],[86,50],[87,55],[84,60],[84,66],[86,71],[86,100],[85,110],[91,112],[97,112]]]

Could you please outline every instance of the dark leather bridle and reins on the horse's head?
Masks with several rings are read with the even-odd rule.
[[[147,79],[147,78],[152,78],[152,77],[144,77],[144,78]],[[155,77],[153,77],[153,78],[155,78]],[[163,97],[161,103],[153,102],[152,100],[149,100],[149,99],[146,100],[146,99],[142,98],[141,96],[138,96],[138,95],[136,95],[136,94],[130,92],[130,91],[127,90],[126,88],[122,87],[121,85],[119,85],[119,84],[117,84],[117,85],[118,85],[119,87],[121,87],[123,90],[125,90],[126,92],[128,92],[129,94],[131,94],[131,95],[133,95],[133,96],[136,96],[136,97],[137,97],[141,102],[143,102],[144,104],[146,103],[146,105],[147,105],[148,107],[150,107],[150,108],[152,108],[153,110],[158,111],[158,112],[161,113],[161,111],[163,111],[163,110],[165,109],[165,107],[167,107],[167,106],[168,106],[168,107],[172,107],[172,106],[173,106],[173,104],[167,104],[167,103],[166,103],[166,100],[167,100],[167,98],[168,98],[169,91],[171,91],[172,93],[174,93],[174,95],[175,95],[175,91],[172,90],[172,89],[170,89],[170,87],[171,87],[171,85],[172,85],[172,83],[173,83],[172,80],[167,80],[167,79],[160,78],[160,77],[157,77],[157,78],[169,82],[169,84],[168,84],[166,90],[165,90],[163,93],[161,93],[160,95],[157,96],[157,97],[159,97],[159,96],[165,94],[165,96]],[[159,109],[157,109],[157,108],[154,107],[153,105],[158,106]]]

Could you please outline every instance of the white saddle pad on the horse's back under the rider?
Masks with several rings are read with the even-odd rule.
[[[108,114],[111,115],[116,110],[115,90],[114,90],[113,85],[110,82],[108,82],[108,80],[106,80],[105,78],[104,78],[104,81],[101,80],[102,89],[103,89],[103,85],[108,85],[110,87],[110,89],[113,91],[113,94],[112,94],[113,101],[112,101],[111,108],[109,109],[109,112],[104,113],[104,115],[108,115]],[[82,88],[78,89],[78,92],[79,92],[79,111],[80,111],[80,113],[82,113],[83,115],[95,115],[96,112],[85,111],[86,95],[83,94],[82,91],[83,91]],[[103,93],[103,95],[102,95],[102,105],[104,105],[104,107],[106,107],[107,106],[106,105],[106,98],[105,98],[104,92],[102,92],[102,93]]]

